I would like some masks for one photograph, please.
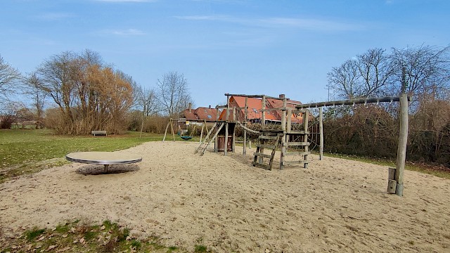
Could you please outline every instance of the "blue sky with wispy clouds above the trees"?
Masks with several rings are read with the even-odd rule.
[[[196,106],[224,93],[309,103],[369,48],[449,46],[449,13],[448,0],[2,0],[0,55],[25,73],[88,48],[141,86],[183,73]]]

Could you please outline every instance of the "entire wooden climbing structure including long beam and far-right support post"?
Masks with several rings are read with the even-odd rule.
[[[360,98],[350,100],[336,100],[320,103],[308,103],[308,104],[293,104],[290,103],[288,98],[280,96],[278,98],[265,96],[265,95],[244,95],[244,94],[230,94],[226,93],[227,104],[223,106],[217,106],[216,110],[223,109],[221,115],[217,113],[217,119],[211,129],[207,129],[207,134],[202,141],[200,136],[200,145],[195,150],[195,153],[200,155],[205,154],[207,147],[214,141],[214,152],[227,152],[235,151],[236,144],[236,128],[241,127],[243,129],[243,155],[246,154],[247,148],[247,134],[258,134],[259,143],[257,143],[256,152],[253,153],[252,165],[255,167],[261,167],[263,169],[271,170],[274,166],[274,157],[277,148],[280,150],[280,164],[279,169],[284,169],[288,165],[302,165],[304,168],[308,167],[309,151],[309,119],[311,118],[309,110],[311,108],[319,108],[319,159],[323,159],[323,107],[338,106],[338,105],[356,105],[368,103],[400,103],[400,129],[399,129],[399,145],[397,150],[397,167],[390,168],[390,174],[388,179],[389,193],[395,193],[399,196],[403,195],[403,171],[406,160],[406,142],[408,136],[408,102],[410,97],[406,96],[406,93],[402,92],[399,97],[385,97],[385,98]],[[245,99],[243,106],[231,106],[230,98],[238,97]],[[249,108],[249,99],[261,100],[261,107],[259,110],[256,108]],[[279,105],[278,107],[268,107],[266,103],[268,100],[272,101],[272,105]],[[274,101],[281,101],[281,103],[274,103]],[[251,109],[251,110],[250,110]],[[259,131],[255,131],[248,128],[249,113],[259,113],[259,124],[261,127]],[[274,117],[274,115],[278,117]],[[270,117],[267,119],[266,117]],[[255,118],[253,118],[255,119]],[[279,120],[278,120],[279,119]],[[172,119],[166,127],[167,129],[172,126],[172,135],[174,136],[174,129],[172,125]],[[255,122],[255,120],[253,121]],[[206,126],[206,124],[205,124]],[[165,136],[166,136],[165,134]],[[317,134],[317,133],[316,133]],[[165,139],[165,137],[164,137]],[[174,137],[175,139],[175,137]],[[164,140],[163,140],[164,141]]]

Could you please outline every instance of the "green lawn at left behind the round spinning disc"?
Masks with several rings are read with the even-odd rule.
[[[115,151],[146,141],[162,141],[160,134],[127,132],[120,136],[58,136],[49,129],[0,130],[0,183],[65,163],[65,155],[83,151]]]

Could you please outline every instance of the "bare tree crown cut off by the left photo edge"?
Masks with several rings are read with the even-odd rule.
[[[20,72],[0,56],[0,103],[4,102],[12,93],[16,93],[20,79]]]

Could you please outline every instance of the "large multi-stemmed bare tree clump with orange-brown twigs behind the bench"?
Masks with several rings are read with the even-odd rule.
[[[63,52],[52,56],[37,70],[39,87],[58,105],[64,134],[89,134],[91,130],[120,133],[131,107],[131,77],[103,67],[97,53]],[[62,119],[62,120],[61,120]]]

